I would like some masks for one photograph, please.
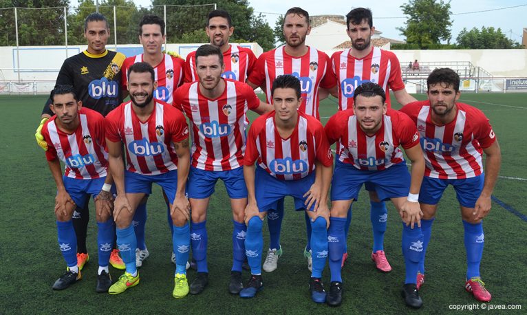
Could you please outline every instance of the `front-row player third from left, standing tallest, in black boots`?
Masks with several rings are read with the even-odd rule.
[[[197,277],[190,292],[199,294],[208,283],[206,214],[214,186],[221,179],[230,197],[234,224],[229,292],[238,294],[243,286],[241,266],[245,259],[247,189],[241,166],[246,142],[246,112],[251,109],[259,114],[266,113],[270,106],[261,102],[245,83],[222,78],[224,59],[219,48],[202,45],[195,52],[195,60],[200,80],[182,85],[174,96],[175,107],[184,111],[191,122],[192,166],[187,193],[192,208],[189,237]],[[185,295],[182,292],[180,297]]]

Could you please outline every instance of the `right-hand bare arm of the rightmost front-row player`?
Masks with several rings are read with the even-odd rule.
[[[502,152],[499,149],[497,140],[493,142],[491,146],[488,146],[488,148],[483,149],[483,152],[486,155],[485,182],[483,184],[482,193],[480,197],[477,198],[474,206],[473,215],[475,215],[477,220],[483,219],[491,211],[491,195],[496,184],[499,168],[502,165]]]

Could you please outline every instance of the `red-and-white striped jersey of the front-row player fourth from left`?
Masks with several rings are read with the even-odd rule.
[[[279,180],[299,180],[314,171],[315,161],[333,163],[333,153],[319,120],[299,111],[297,127],[289,138],[281,138],[275,127],[275,111],[252,123],[247,138],[244,165],[258,162]]]

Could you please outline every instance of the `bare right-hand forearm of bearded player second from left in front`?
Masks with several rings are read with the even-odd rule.
[[[175,191],[174,203],[171,213],[179,211],[183,213],[187,220],[191,217],[191,205],[185,196],[186,179],[189,177],[191,167],[191,150],[189,148],[189,138],[180,142],[174,142],[175,154],[178,155],[178,187]]]

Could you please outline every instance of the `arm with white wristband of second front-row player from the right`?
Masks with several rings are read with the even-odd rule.
[[[413,228],[414,224],[421,226],[421,208],[419,206],[418,198],[419,191],[421,188],[422,177],[424,176],[424,155],[421,150],[421,146],[416,144],[409,149],[405,149],[405,153],[408,160],[411,162],[411,180],[410,180],[410,193],[407,201],[402,205],[401,217],[405,220],[405,223]]]

